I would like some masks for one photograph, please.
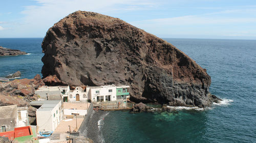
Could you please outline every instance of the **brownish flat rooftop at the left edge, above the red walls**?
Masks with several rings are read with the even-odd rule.
[[[17,105],[0,106],[0,119],[15,118],[17,114]]]

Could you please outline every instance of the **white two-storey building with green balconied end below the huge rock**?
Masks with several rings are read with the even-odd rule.
[[[129,98],[129,85],[102,85],[100,87],[87,86],[89,100],[92,102],[116,101]]]

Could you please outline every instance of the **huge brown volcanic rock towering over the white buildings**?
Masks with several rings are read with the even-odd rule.
[[[71,85],[128,84],[136,102],[211,104],[205,69],[172,44],[118,18],[74,12],[48,30],[42,51],[44,78],[56,75]]]

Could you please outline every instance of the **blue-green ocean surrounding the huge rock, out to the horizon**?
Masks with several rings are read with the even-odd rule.
[[[211,76],[210,92],[223,99],[204,110],[110,111],[102,116],[99,142],[256,142],[256,40],[164,39]],[[0,77],[40,74],[42,38],[4,38],[0,45],[28,55],[0,57]],[[96,141],[97,142],[97,141]]]

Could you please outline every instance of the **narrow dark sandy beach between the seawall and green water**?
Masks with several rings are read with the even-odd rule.
[[[85,130],[81,131],[82,136],[92,139],[94,142],[105,142],[102,134],[103,120],[109,111],[93,110]]]

